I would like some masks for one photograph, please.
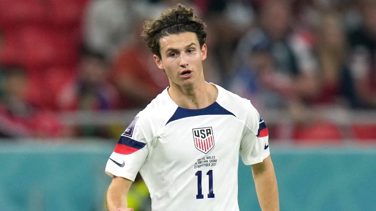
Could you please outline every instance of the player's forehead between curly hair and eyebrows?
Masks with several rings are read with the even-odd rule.
[[[159,40],[161,52],[165,52],[169,49],[182,49],[191,43],[195,43],[199,46],[197,36],[193,32],[184,32],[180,34],[170,34],[164,36]]]

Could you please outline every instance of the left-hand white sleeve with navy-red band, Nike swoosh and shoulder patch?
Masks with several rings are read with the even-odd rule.
[[[105,172],[109,176],[124,177],[134,181],[147,154],[149,139],[147,124],[138,116],[120,135],[118,143],[107,161]]]

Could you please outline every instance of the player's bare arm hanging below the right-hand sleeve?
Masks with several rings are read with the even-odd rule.
[[[279,211],[276,174],[270,155],[261,163],[252,165],[258,202],[262,211]]]

